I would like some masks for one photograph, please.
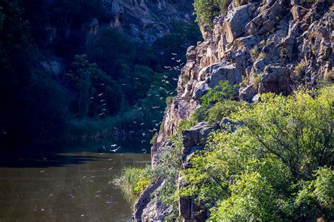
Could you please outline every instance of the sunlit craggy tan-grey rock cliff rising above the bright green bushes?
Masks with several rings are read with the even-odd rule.
[[[260,100],[261,93],[289,95],[299,86],[313,89],[321,79],[333,81],[333,18],[330,1],[233,1],[226,15],[214,20],[212,32],[203,32],[204,41],[187,49],[178,96],[168,106],[163,131],[151,148],[152,166],[159,164],[166,138],[175,133],[181,120],[190,118],[199,98],[219,81],[241,84],[239,99],[249,103]],[[192,133],[205,132],[205,127],[197,126]],[[184,140],[185,150],[192,140]],[[137,200],[135,220],[168,215],[166,207],[162,210],[162,205],[150,202],[159,183],[150,185]],[[185,221],[206,218],[205,211],[195,216],[195,208],[191,200],[179,202]]]

